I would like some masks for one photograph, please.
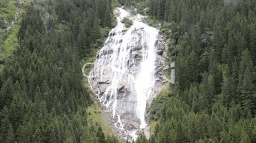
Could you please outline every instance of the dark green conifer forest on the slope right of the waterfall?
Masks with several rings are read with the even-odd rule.
[[[150,0],[171,39],[176,84],[150,108],[137,142],[256,142],[256,1]]]

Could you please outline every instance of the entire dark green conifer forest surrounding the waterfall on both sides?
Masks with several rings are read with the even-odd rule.
[[[87,121],[94,101],[81,72],[115,25],[113,1],[30,4],[0,73],[0,142],[119,142]],[[161,23],[176,65],[148,111],[150,139],[136,143],[256,142],[256,1],[119,2]]]

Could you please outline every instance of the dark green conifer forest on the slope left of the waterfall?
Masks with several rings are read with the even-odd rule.
[[[118,142],[87,121],[80,70],[110,27],[109,0],[31,3],[0,76],[0,142]]]

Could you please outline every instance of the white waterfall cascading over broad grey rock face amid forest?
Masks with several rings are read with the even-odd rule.
[[[111,30],[97,53],[89,83],[99,101],[113,115],[115,127],[127,137],[146,127],[146,104],[150,104],[162,69],[163,40],[159,30],[143,23],[143,16],[132,16],[115,9],[117,27]],[[126,28],[122,20],[132,20]]]

